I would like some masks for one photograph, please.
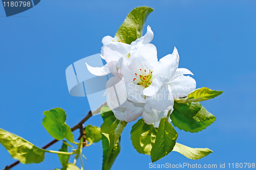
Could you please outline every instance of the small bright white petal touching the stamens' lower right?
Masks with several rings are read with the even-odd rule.
[[[146,96],[152,96],[158,93],[162,85],[164,85],[168,79],[163,76],[157,76],[153,79],[152,84],[143,90],[143,94]]]

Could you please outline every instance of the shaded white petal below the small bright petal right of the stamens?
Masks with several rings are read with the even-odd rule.
[[[167,111],[173,108],[174,98],[169,85],[163,85],[156,95],[146,96],[148,107],[159,111]]]

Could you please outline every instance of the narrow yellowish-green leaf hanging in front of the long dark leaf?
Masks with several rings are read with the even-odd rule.
[[[110,145],[109,145],[107,156],[109,156],[111,154],[111,152],[115,146],[115,143],[121,136],[121,133],[126,125],[127,125],[127,122],[120,121],[118,119],[116,119],[115,122],[111,125],[110,130],[109,130]]]

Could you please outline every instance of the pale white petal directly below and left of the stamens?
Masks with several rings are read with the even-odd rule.
[[[127,99],[132,102],[146,103],[145,96],[143,95],[143,86],[137,85],[132,82],[126,84]]]

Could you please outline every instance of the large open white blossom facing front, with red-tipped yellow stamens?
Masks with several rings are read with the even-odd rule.
[[[159,116],[156,113],[167,115],[168,110],[173,108],[174,98],[187,96],[195,90],[196,81],[189,76],[183,76],[193,74],[188,69],[178,68],[178,64],[179,54],[176,48],[172,55],[158,61],[157,50],[153,44],[139,47],[129,58],[122,60],[120,74],[125,81],[127,100],[140,104],[136,107],[143,108],[142,117],[145,123],[157,124]],[[141,114],[141,109],[135,112],[137,114],[134,113],[134,118]]]

